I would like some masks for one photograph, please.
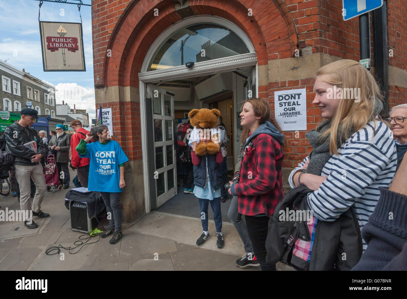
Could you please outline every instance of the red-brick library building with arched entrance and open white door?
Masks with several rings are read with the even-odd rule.
[[[387,2],[390,107],[407,103],[406,7],[402,0]],[[374,25],[371,12],[372,74]],[[360,59],[359,18],[344,21],[341,0],[94,0],[92,35],[96,107],[112,107],[114,138],[130,159],[125,221],[175,196],[173,127],[190,109],[221,110],[230,129],[232,171],[239,155],[236,120],[242,100],[268,98],[274,110],[275,91],[306,88],[311,130],[320,120],[312,104],[318,68]],[[188,68],[186,62],[195,64]],[[285,179],[312,150],[305,133],[296,138],[284,132]]]

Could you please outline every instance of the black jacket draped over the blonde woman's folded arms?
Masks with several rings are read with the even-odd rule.
[[[362,255],[362,237],[352,207],[335,221],[318,220],[310,262],[292,254],[297,238],[309,241],[311,236],[306,221],[280,221],[279,211],[287,207],[297,210],[293,206],[309,210],[306,194],[312,191],[306,186],[291,189],[277,205],[269,221],[266,262],[281,261],[290,266],[294,263],[298,268],[310,271],[350,270]]]

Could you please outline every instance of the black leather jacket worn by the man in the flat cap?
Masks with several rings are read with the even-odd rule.
[[[18,124],[17,120],[4,130],[4,140],[6,141],[7,153],[15,156],[16,165],[35,165],[37,163],[31,162],[31,157],[36,155],[30,148],[25,147],[23,144],[36,141],[37,154],[45,155],[45,147],[42,138],[39,137],[34,128],[27,127],[24,129]]]

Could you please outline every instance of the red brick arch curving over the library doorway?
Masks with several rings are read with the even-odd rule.
[[[258,65],[292,57],[298,47],[293,19],[282,0],[213,0],[210,4],[192,0],[189,8],[195,15],[217,15],[239,26],[252,41]],[[154,16],[154,9],[158,9],[158,16]],[[252,16],[248,15],[249,9]],[[179,20],[182,17],[175,11],[173,0],[157,5],[153,1],[133,0],[122,13],[106,46],[112,56],[101,51],[103,57],[99,55],[94,60],[95,86],[138,87],[138,72],[151,44],[164,29]],[[262,89],[259,87],[259,92]]]

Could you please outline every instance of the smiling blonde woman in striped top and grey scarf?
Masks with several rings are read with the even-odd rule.
[[[315,190],[307,194],[315,216],[308,223],[311,241],[296,240],[291,259],[303,270],[318,221],[332,222],[353,207],[362,229],[379,200],[379,187],[388,187],[394,177],[397,158],[392,131],[377,116],[383,108],[379,86],[360,63],[339,60],[320,68],[314,91],[322,121],[306,133],[313,151],[289,176],[291,188]]]

